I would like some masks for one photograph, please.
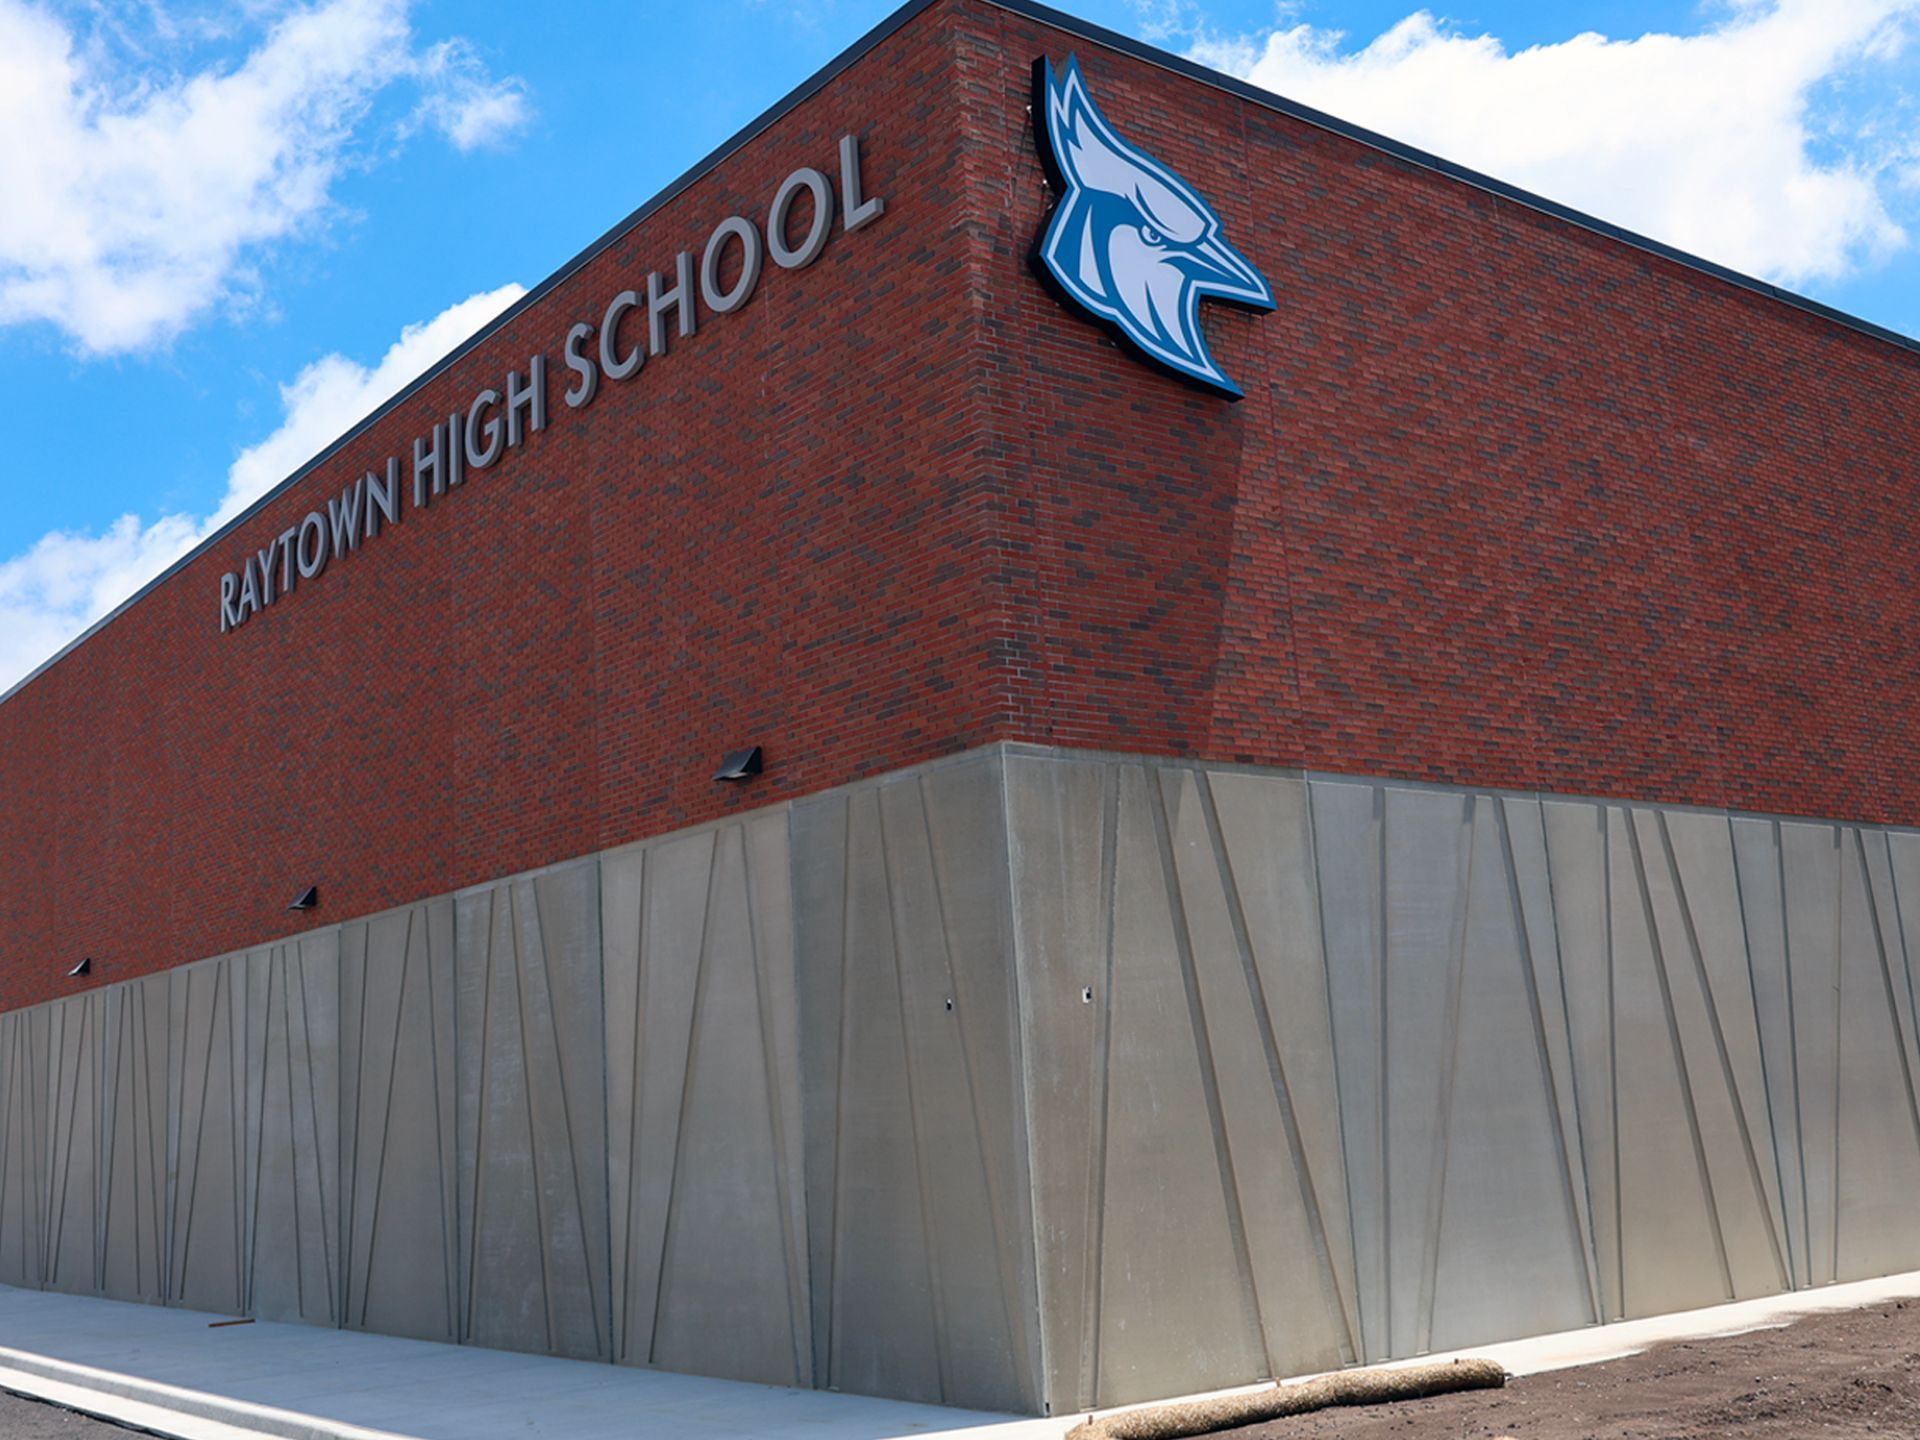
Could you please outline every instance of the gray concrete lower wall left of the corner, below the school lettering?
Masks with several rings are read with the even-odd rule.
[[[1000,789],[962,756],[0,1016],[0,1283],[1037,1409]]]

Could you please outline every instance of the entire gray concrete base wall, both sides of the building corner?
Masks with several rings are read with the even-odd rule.
[[[0,1016],[0,1283],[1069,1411],[1912,1269],[1916,904],[996,747]]]

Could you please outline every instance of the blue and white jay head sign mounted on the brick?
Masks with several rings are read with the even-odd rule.
[[[1200,301],[1269,311],[1265,278],[1187,180],[1108,125],[1071,56],[1060,73],[1046,58],[1033,63],[1033,100],[1041,161],[1060,196],[1035,242],[1035,271],[1152,363],[1238,399],[1208,353]]]

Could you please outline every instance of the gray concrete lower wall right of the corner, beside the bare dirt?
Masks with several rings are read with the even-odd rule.
[[[1008,758],[1056,1409],[1920,1267],[1920,835]]]

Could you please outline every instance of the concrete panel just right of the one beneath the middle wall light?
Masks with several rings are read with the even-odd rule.
[[[342,1323],[459,1338],[453,902],[340,931]]]

